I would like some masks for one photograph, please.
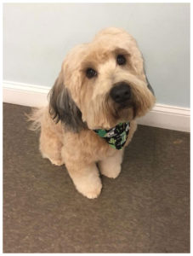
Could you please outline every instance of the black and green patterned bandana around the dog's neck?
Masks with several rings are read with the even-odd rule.
[[[122,149],[127,141],[129,128],[129,122],[119,123],[110,130],[98,129],[94,130],[94,132],[96,132],[99,137],[103,137],[112,148]]]

